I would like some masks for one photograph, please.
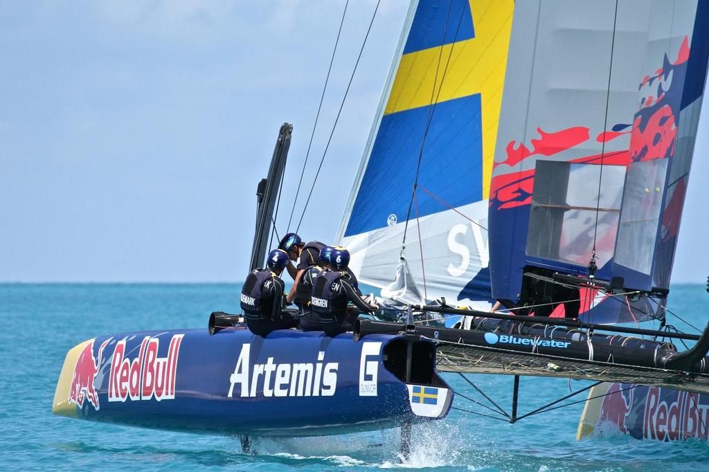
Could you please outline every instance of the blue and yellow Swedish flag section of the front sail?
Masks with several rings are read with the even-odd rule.
[[[418,1],[345,236],[406,220],[419,154],[419,217],[488,198],[513,9]]]

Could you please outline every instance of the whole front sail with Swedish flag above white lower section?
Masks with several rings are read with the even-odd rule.
[[[401,300],[415,287],[489,307],[487,195],[513,6],[411,5],[337,238],[359,280]]]

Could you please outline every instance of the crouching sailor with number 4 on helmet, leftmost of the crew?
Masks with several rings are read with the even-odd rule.
[[[241,291],[241,308],[249,330],[255,335],[267,336],[273,330],[287,330],[298,326],[298,320],[281,310],[284,301],[284,283],[279,277],[288,264],[288,254],[274,249],[268,255],[268,269],[251,271]]]

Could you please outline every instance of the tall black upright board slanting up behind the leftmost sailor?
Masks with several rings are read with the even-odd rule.
[[[271,158],[268,176],[266,179],[259,181],[256,189],[256,229],[254,244],[251,249],[250,271],[263,266],[266,258],[269,235],[273,224],[273,210],[276,206],[276,198],[281,186],[281,179],[283,179],[283,172],[286,169],[288,150],[291,147],[291,133],[293,133],[293,125],[283,123],[278,133],[278,140]]]

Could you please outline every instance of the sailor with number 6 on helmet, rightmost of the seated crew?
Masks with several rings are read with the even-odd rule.
[[[311,306],[320,317],[323,331],[330,336],[352,331],[357,315],[347,315],[348,302],[367,313],[379,309],[378,305],[369,305],[362,300],[359,291],[346,276],[347,264],[350,264],[350,253],[347,249],[335,247],[330,252],[330,269],[321,271],[313,285]]]

